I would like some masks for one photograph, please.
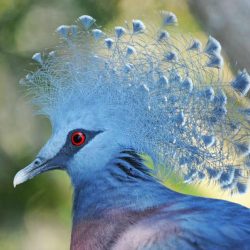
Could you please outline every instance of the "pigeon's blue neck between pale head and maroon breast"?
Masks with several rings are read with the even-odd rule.
[[[111,211],[142,211],[178,196],[154,177],[134,151],[122,151],[94,181],[74,189],[73,224],[102,218]]]

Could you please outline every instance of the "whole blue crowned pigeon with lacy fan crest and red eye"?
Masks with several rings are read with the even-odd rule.
[[[72,250],[250,249],[250,211],[174,192],[162,183],[210,181],[244,193],[250,176],[250,76],[222,78],[221,45],[172,34],[161,12],[104,32],[83,15],[21,83],[52,136],[14,186],[53,169],[74,189]],[[237,108],[236,103],[243,103]],[[154,167],[145,163],[147,155]]]

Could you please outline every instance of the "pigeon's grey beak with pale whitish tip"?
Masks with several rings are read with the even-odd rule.
[[[13,185],[16,187],[17,185],[32,179],[38,174],[46,172],[48,170],[57,169],[55,165],[51,164],[49,160],[42,160],[41,158],[36,158],[31,164],[27,167],[21,169],[14,177]]]

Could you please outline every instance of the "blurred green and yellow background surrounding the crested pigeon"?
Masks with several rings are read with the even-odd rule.
[[[224,45],[227,73],[250,70],[249,0],[0,0],[0,249],[66,250],[71,229],[70,181],[54,171],[16,189],[15,172],[26,166],[50,135],[44,117],[33,116],[18,81],[32,70],[31,56],[57,43],[55,29],[83,14],[111,29],[125,20],[159,24],[159,10],[178,16],[178,30],[204,43],[207,34]],[[211,185],[187,186],[172,179],[173,189],[228,199],[250,207],[250,192],[229,196]]]

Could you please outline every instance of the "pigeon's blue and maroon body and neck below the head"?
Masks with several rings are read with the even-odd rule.
[[[72,250],[250,249],[249,209],[178,194],[136,164],[130,175],[121,166],[75,190]]]

